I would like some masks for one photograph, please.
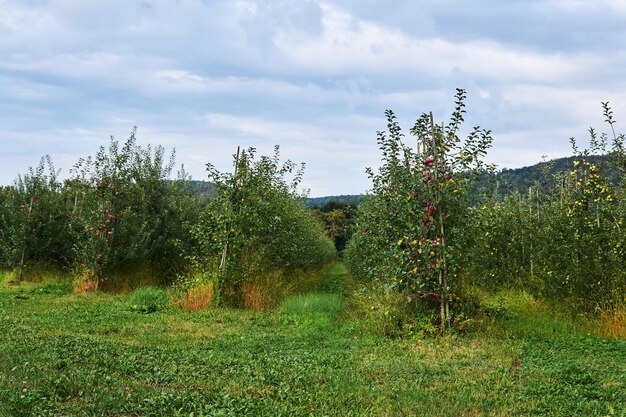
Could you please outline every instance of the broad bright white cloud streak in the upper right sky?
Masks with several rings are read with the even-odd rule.
[[[494,41],[454,43],[413,38],[372,22],[323,7],[324,33],[294,42],[279,34],[277,46],[299,70],[325,74],[424,74],[440,76],[455,68],[492,82],[562,82],[578,73],[577,60],[560,55],[510,50]]]

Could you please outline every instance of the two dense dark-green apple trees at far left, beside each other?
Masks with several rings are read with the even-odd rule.
[[[141,147],[133,131],[80,159],[60,182],[48,156],[0,190],[0,268],[72,269],[77,288],[115,288],[139,269],[167,282],[185,267],[185,227],[198,208],[184,171],[169,175],[174,153]],[[122,274],[122,272],[126,272]],[[123,283],[127,284],[126,282]]]

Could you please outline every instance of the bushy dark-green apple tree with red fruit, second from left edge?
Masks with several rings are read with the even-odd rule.
[[[108,149],[76,164],[68,187],[78,265],[99,279],[135,264],[159,265],[166,276],[182,265],[183,223],[194,200],[184,174],[168,180],[173,166],[173,152],[168,161],[162,147],[140,147],[135,131],[121,147],[112,138]]]

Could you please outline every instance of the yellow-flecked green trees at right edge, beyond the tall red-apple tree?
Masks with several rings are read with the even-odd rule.
[[[612,112],[603,105],[613,128]],[[613,133],[609,145],[608,135],[589,132],[589,149],[579,150],[571,140],[575,159],[567,172],[555,175],[546,166],[526,193],[492,193],[472,209],[467,272],[474,283],[515,285],[581,312],[623,305],[624,135]]]

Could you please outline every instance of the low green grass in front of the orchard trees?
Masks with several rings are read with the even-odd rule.
[[[0,416],[626,416],[625,341],[514,293],[468,335],[388,339],[341,313],[344,274],[269,314],[2,287]]]

